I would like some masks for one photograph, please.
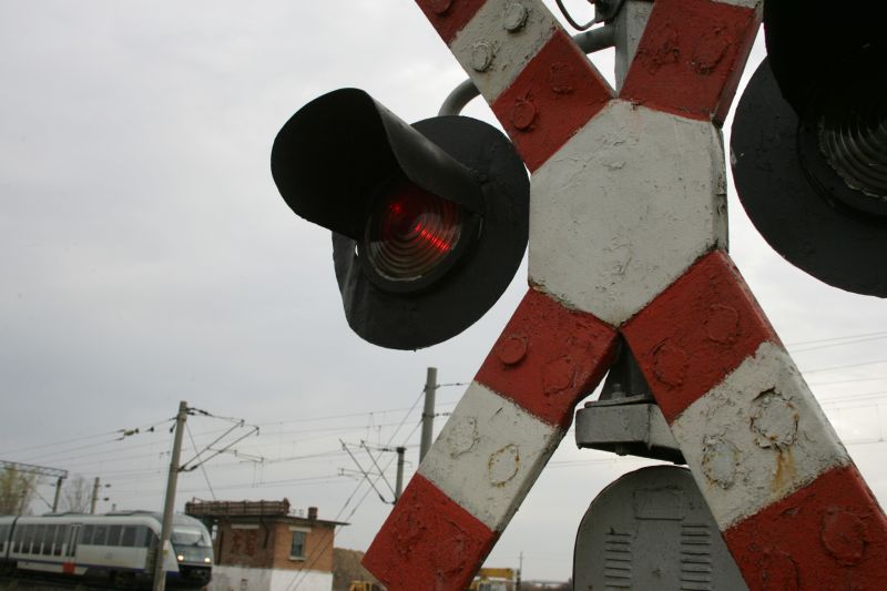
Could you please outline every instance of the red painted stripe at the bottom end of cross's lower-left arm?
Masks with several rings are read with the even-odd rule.
[[[463,591],[497,537],[417,473],[363,563],[388,591]]]

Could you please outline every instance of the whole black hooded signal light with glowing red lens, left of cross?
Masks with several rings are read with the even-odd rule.
[[[340,89],[289,119],[271,164],[287,205],[333,232],[345,316],[376,345],[418,349],[461,333],[523,257],[527,171],[487,123],[409,125],[366,92]]]

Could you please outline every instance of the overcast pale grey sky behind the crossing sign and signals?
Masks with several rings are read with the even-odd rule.
[[[762,57],[758,39],[752,61]],[[337,544],[366,549],[389,508],[373,492],[360,502],[367,487],[338,440],[417,445],[419,409],[407,410],[425,368],[471,379],[526,266],[452,340],[368,345],[341,314],[328,233],[276,192],[271,144],[336,88],[415,121],[463,78],[409,0],[0,0],[0,459],[101,477],[101,510],[159,509],[167,419],[184,399],[261,435],[183,475],[180,508],[287,497],[347,518]],[[491,120],[479,101],[468,113]],[[884,503],[887,303],[795,269],[735,195],[730,205],[734,258]],[[462,390],[441,388],[438,412]],[[150,425],[161,428],[115,440]],[[227,425],[193,418],[190,434],[200,447]],[[489,562],[516,565],[522,552],[527,578],[567,579],[588,503],[641,465],[577,450],[571,432]]]

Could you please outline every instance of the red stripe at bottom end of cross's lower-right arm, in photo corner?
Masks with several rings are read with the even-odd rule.
[[[752,591],[885,589],[887,518],[854,466],[724,532]]]

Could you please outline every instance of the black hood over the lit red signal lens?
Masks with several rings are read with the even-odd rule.
[[[373,202],[399,176],[473,212],[483,206],[469,169],[358,89],[299,109],[274,141],[271,170],[296,214],[354,240]]]

